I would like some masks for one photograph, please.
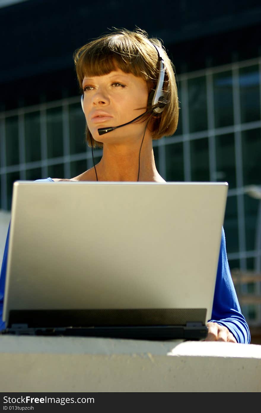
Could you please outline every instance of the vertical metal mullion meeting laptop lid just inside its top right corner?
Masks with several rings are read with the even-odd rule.
[[[213,74],[206,73],[206,100],[208,116],[208,140],[209,140],[209,173],[210,180],[216,181],[216,146],[215,146],[215,121],[214,121],[214,90]]]

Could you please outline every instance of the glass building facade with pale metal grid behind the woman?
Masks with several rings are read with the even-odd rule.
[[[227,181],[230,269],[260,272],[261,201],[246,188],[261,185],[261,59],[178,74],[178,95],[178,130],[153,143],[157,169],[167,181]],[[15,180],[71,178],[93,166],[80,96],[2,112],[0,128],[0,209],[10,209]],[[97,162],[102,150],[94,154]],[[261,282],[236,288],[252,297],[240,303],[249,324],[260,325]]]

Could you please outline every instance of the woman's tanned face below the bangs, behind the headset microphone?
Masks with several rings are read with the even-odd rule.
[[[148,84],[141,77],[120,69],[103,76],[83,79],[83,107],[88,128],[93,138],[103,143],[133,142],[140,139],[145,123],[131,123],[104,135],[98,128],[118,126],[146,112]]]

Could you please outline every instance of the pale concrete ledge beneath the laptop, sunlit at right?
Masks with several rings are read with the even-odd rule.
[[[261,346],[0,337],[1,392],[260,392]]]

